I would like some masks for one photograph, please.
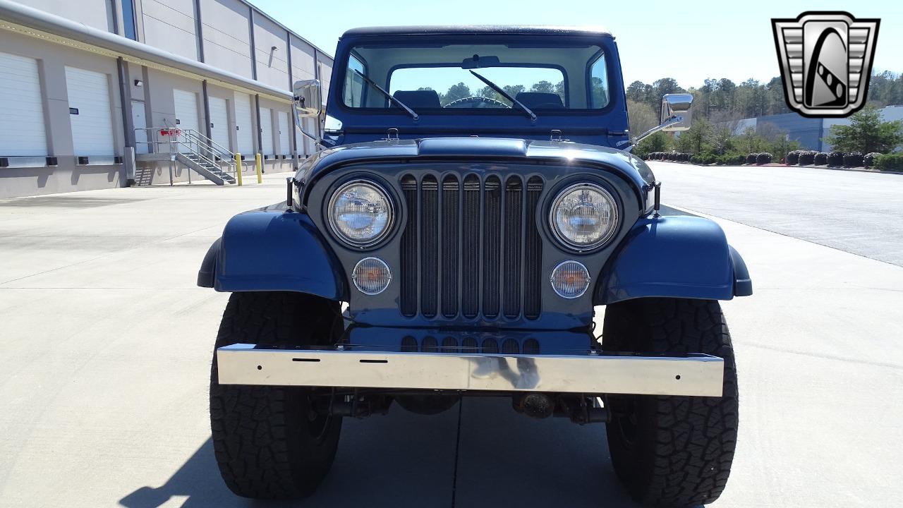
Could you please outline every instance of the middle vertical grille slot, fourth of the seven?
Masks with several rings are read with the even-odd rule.
[[[479,315],[479,178],[464,178],[461,230],[461,314]]]

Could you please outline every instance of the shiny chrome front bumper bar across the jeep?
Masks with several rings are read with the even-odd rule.
[[[217,350],[220,384],[416,390],[636,393],[721,397],[724,360],[636,354]]]

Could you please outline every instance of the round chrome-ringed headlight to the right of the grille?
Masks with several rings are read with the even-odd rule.
[[[552,203],[549,222],[555,237],[577,250],[595,249],[618,229],[618,205],[595,183],[564,189]]]

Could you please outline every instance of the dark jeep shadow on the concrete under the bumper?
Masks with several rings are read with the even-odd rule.
[[[330,475],[301,502],[255,502],[228,491],[208,439],[159,487],[123,497],[126,508],[182,506],[593,506],[635,508],[614,472],[605,428],[517,415],[507,399],[470,399],[435,416],[393,406],[346,419]],[[172,504],[168,504],[172,505]]]

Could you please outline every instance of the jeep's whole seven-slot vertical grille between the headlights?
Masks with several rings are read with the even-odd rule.
[[[535,319],[542,240],[535,224],[543,181],[517,174],[402,179],[401,312],[424,317]],[[419,284],[418,284],[419,283]]]

